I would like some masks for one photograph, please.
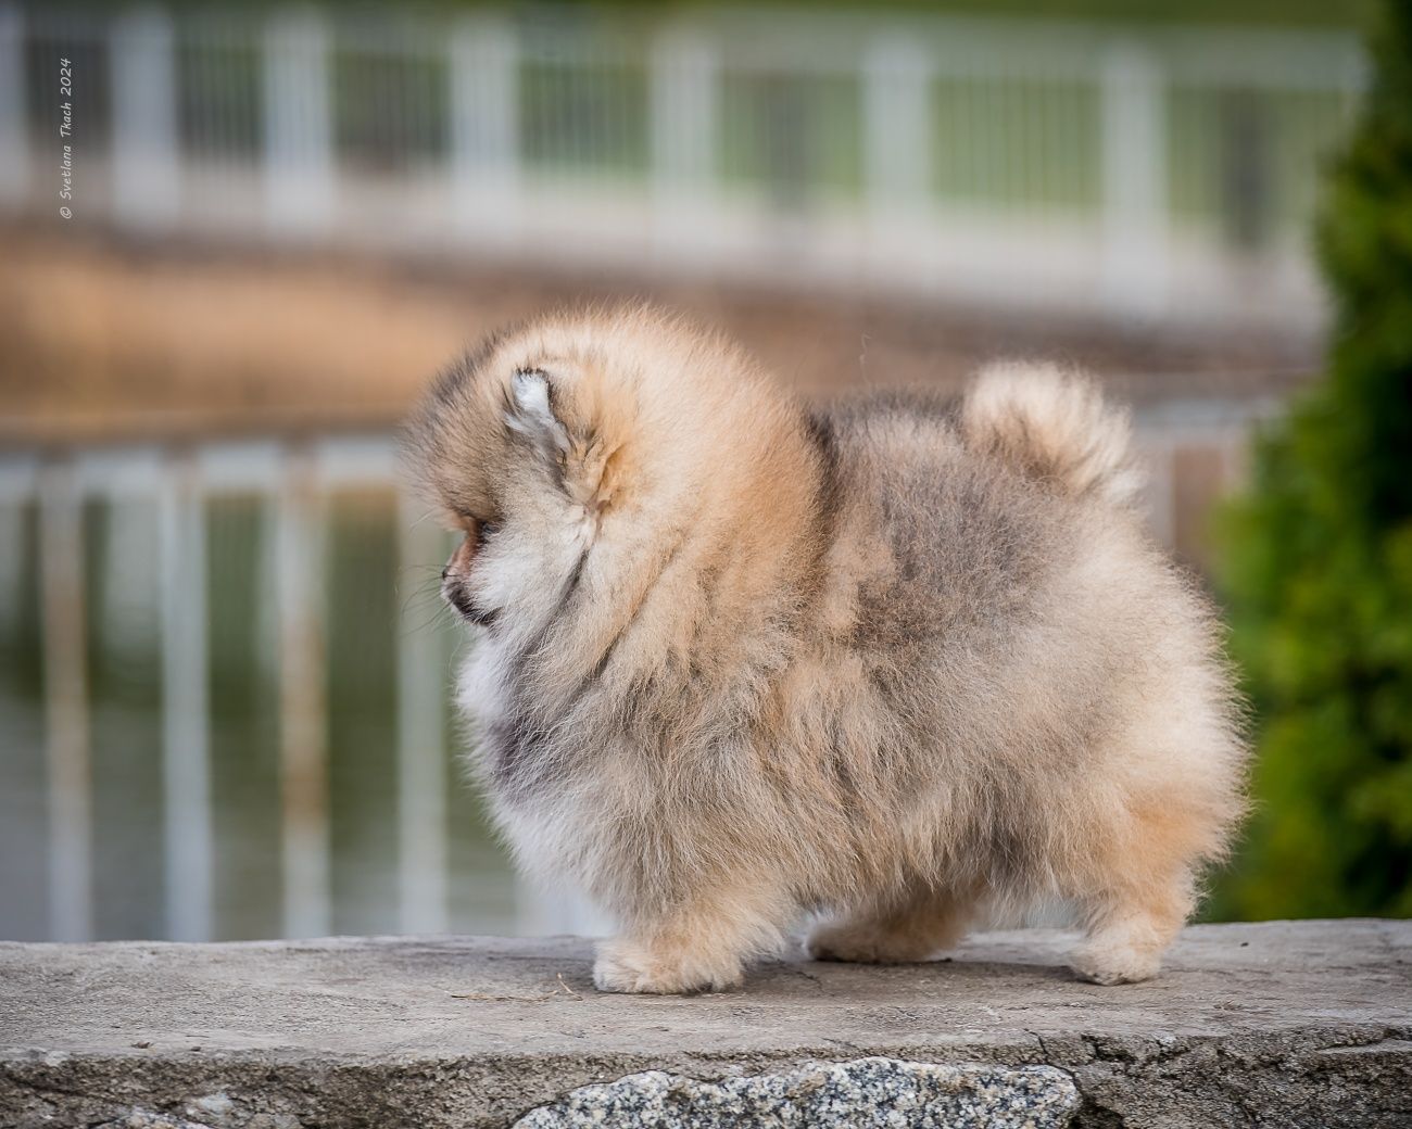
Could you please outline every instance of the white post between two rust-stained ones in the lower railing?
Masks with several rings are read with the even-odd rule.
[[[158,504],[167,933],[205,941],[215,931],[206,529],[191,460],[167,467]]]

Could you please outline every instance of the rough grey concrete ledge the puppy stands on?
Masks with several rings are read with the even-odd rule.
[[[837,1123],[950,1125],[936,1094],[995,1087],[1049,1102],[1036,1125],[1412,1126],[1412,922],[1197,926],[1120,988],[1073,981],[1066,940],[774,964],[690,999],[596,994],[578,938],[3,944],[0,1125],[556,1126],[609,1098],[597,1123],[816,1125],[819,1087],[867,1106],[939,1064]]]

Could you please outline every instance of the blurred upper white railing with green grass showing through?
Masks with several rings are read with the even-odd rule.
[[[107,18],[0,3],[0,207],[75,222],[1308,325],[1339,34],[734,7]]]

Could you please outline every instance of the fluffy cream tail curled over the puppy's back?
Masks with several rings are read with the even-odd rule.
[[[1131,505],[1142,488],[1127,412],[1087,378],[1051,364],[994,364],[962,406],[971,450],[1079,498]]]

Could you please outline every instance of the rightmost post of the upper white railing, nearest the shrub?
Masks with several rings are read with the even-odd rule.
[[[1103,302],[1152,318],[1168,302],[1166,106],[1161,62],[1114,44],[1103,59]]]

